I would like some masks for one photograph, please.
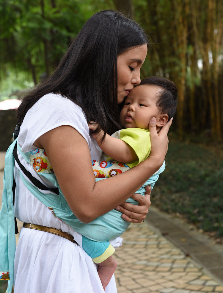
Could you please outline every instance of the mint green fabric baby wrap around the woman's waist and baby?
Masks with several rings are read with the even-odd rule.
[[[29,162],[29,153],[22,153],[19,146],[18,150],[23,158],[25,158]],[[118,166],[115,166],[115,164],[113,164],[112,169],[114,168],[118,168]],[[156,172],[156,174],[150,177],[150,179],[147,180],[147,182],[138,191],[136,191],[136,193],[141,193],[144,195],[145,186],[147,185],[151,185],[151,187],[153,188],[155,182],[158,180],[159,174],[163,172],[164,169],[165,163],[160,168],[159,172]],[[94,241],[105,242],[122,235],[122,233],[129,226],[130,223],[124,221],[121,218],[122,213],[116,210],[109,211],[108,213],[98,217],[88,224],[80,222],[70,210],[70,207],[68,206],[56,180],[56,176],[53,173],[44,172],[39,172],[38,174],[47,178],[51,183],[54,184],[54,186],[59,188],[59,196],[55,194],[42,194],[38,190],[38,188],[29,183],[26,180],[26,177],[24,177],[23,174],[20,172],[21,179],[23,180],[23,183],[26,185],[29,191],[46,207],[52,208],[57,218],[61,219],[63,222],[65,222],[67,225],[69,225],[85,237]],[[103,179],[106,178],[95,178],[96,181]],[[139,204],[136,200],[133,200],[132,198],[129,198],[126,201],[136,205]]]

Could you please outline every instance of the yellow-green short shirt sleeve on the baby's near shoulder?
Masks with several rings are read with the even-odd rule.
[[[120,130],[120,139],[132,147],[138,157],[138,160],[128,163],[130,168],[138,165],[148,158],[151,150],[150,133],[147,129],[126,128]]]

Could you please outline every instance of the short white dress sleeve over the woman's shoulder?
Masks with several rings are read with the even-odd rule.
[[[40,98],[26,113],[18,136],[22,152],[30,152],[37,138],[62,125],[74,127],[91,146],[83,110],[71,100],[50,93]]]

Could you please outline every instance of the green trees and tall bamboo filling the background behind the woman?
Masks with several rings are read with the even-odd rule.
[[[10,71],[14,68],[29,72],[34,83],[40,81],[41,74],[51,74],[85,21],[97,11],[115,9],[114,2],[117,3],[113,0],[1,0],[3,82],[8,66]],[[128,6],[123,0],[118,2],[122,7]],[[211,137],[222,141],[221,1],[132,0],[132,4],[135,20],[150,38],[141,77],[164,76],[177,85],[176,128],[180,138],[183,131],[191,133],[192,129],[198,133],[210,129]],[[209,9],[210,5],[213,10]],[[210,51],[212,64],[208,58]],[[198,61],[202,61],[203,69],[198,69]]]

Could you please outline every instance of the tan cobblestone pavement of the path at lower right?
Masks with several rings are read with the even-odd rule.
[[[145,221],[123,233],[114,257],[118,293],[223,292],[223,284]]]

